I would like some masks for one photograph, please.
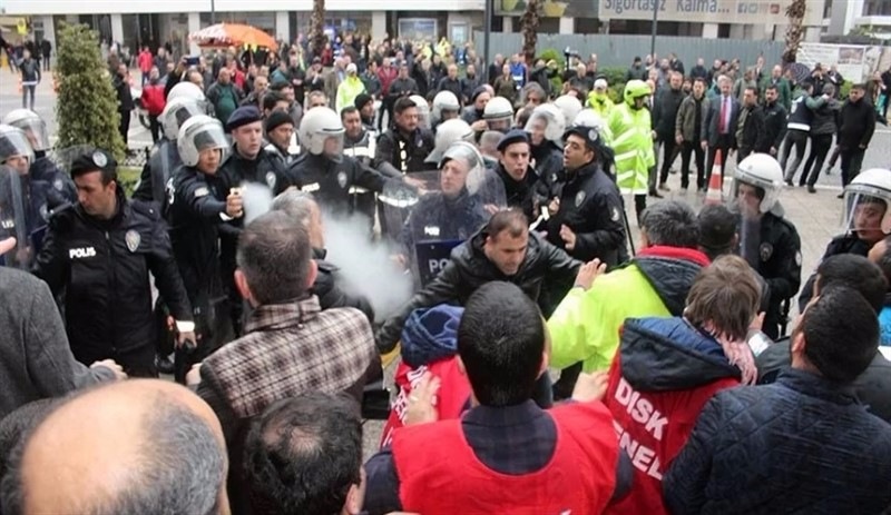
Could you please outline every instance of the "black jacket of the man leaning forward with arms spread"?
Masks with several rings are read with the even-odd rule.
[[[550,245],[539,235],[529,232],[529,244],[519,270],[512,276],[506,276],[486,256],[483,251],[486,238],[486,229],[481,229],[468,241],[456,247],[449,264],[437,278],[414,294],[396,315],[386,320],[378,333],[378,349],[381,353],[393,349],[402,334],[402,326],[415,309],[440,304],[463,306],[477,288],[493,280],[512,283],[522,289],[527,297],[537,301],[546,281],[571,281],[581,266],[581,263]]]

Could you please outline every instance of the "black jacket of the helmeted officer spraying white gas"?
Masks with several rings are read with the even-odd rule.
[[[183,285],[195,308],[207,309],[224,297],[219,266],[219,227],[226,222],[226,202],[219,178],[193,167],[180,167],[173,176],[165,207],[170,244]]]

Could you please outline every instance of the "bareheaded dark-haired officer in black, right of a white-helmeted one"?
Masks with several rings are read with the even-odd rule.
[[[378,169],[390,177],[430,170],[424,160],[433,150],[433,133],[420,127],[418,105],[400,98],[393,105],[393,118],[392,127],[378,138]]]

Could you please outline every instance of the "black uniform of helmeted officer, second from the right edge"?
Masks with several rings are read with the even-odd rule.
[[[770,291],[762,330],[768,337],[780,336],[783,324],[782,304],[801,286],[801,238],[795,226],[783,217],[766,212],[761,217],[758,247],[752,252],[752,267],[766,281]]]

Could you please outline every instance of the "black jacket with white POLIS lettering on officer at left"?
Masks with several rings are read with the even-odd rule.
[[[109,220],[88,215],[80,205],[55,212],[33,267],[53,294],[65,291],[71,350],[87,365],[155,345],[149,273],[173,316],[193,319],[160,214],[128,201],[120,189],[117,200],[118,211]]]

